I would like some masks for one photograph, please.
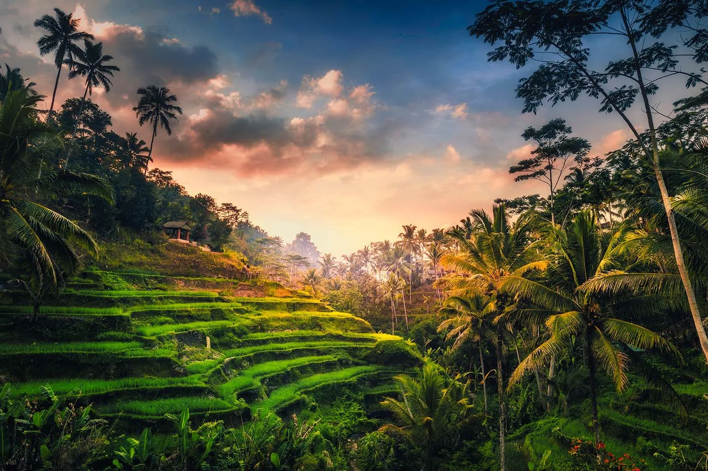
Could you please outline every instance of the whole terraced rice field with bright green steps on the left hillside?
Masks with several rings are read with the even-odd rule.
[[[154,421],[188,407],[235,420],[309,395],[320,402],[337,388],[380,400],[376,391],[390,392],[392,376],[419,361],[400,337],[313,298],[228,297],[204,289],[209,279],[199,284],[101,290],[91,272],[36,322],[30,306],[1,305],[0,375],[16,397],[50,384],[103,417]]]

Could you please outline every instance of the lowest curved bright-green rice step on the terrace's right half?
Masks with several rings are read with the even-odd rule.
[[[319,373],[312,376],[307,376],[295,383],[282,386],[270,392],[268,399],[256,402],[252,409],[277,410],[285,407],[292,402],[300,399],[303,392],[314,390],[316,388],[326,387],[336,383],[350,383],[365,376],[395,374],[398,371],[392,371],[385,366],[352,366],[343,370],[331,371],[328,373]]]

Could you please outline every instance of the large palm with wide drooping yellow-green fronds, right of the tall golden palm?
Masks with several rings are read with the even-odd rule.
[[[678,350],[661,335],[626,319],[638,318],[636,299],[623,303],[613,296],[601,296],[593,288],[603,284],[605,274],[617,275],[617,246],[626,228],[611,235],[603,234],[591,211],[577,214],[567,228],[554,228],[555,255],[549,257],[549,281],[544,283],[512,275],[502,289],[521,296],[538,309],[518,311],[517,315],[546,315],[549,338],[519,364],[509,379],[509,387],[518,383],[527,371],[559,356],[573,339],[580,339],[586,351],[590,375],[590,406],[593,414],[595,443],[600,442],[595,371],[602,366],[612,378],[617,392],[627,388],[627,368],[635,349],[658,348],[677,356]],[[646,274],[644,274],[646,275]],[[629,277],[632,277],[629,274]],[[632,277],[634,278],[634,277]],[[644,280],[649,281],[649,277]],[[646,283],[645,283],[646,284]],[[659,307],[660,298],[653,303]],[[610,310],[611,306],[611,310]],[[651,312],[644,306],[644,315]],[[623,319],[624,318],[624,319]]]

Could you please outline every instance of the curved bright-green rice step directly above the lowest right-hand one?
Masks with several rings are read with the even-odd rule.
[[[251,366],[239,371],[238,376],[234,376],[226,383],[216,387],[219,396],[226,401],[233,401],[234,395],[253,388],[258,388],[261,385],[259,379],[273,376],[279,373],[288,373],[294,368],[302,366],[325,366],[334,365],[338,362],[338,357],[334,355],[321,356],[301,356],[299,358],[266,361],[265,363]]]

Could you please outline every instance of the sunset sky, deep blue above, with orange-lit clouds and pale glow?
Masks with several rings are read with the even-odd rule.
[[[115,132],[149,142],[136,91],[167,86],[184,114],[171,136],[159,131],[153,165],[333,255],[395,240],[404,224],[451,226],[498,197],[547,194],[508,174],[533,149],[528,126],[563,117],[593,155],[629,137],[590,101],[522,115],[514,88],[530,69],[486,62],[489,45],[466,30],[486,1],[0,0],[0,62],[45,95],[57,69],[33,21],[52,6],[120,67],[91,97]],[[82,93],[62,74],[58,103]]]

